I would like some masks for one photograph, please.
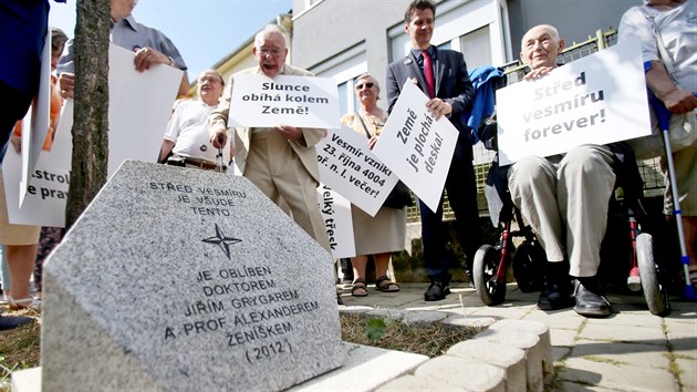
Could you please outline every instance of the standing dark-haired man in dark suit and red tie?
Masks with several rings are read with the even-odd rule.
[[[467,73],[461,53],[439,50],[430,44],[436,20],[436,8],[428,0],[412,1],[404,18],[404,30],[409,34],[412,51],[387,68],[387,100],[389,111],[395,105],[402,86],[409,80],[416,83],[430,100],[426,104],[436,120],[446,116],[459,131],[455,154],[446,178],[450,207],[455,212],[456,228],[467,257],[466,268],[471,264],[481,245],[481,228],[477,209],[477,187],[472,168],[472,147],[469,132],[460,115],[472,104],[475,89]],[[448,285],[452,264],[446,251],[448,233],[443,224],[443,196],[438,210],[431,212],[419,200],[422,214],[422,240],[424,260],[430,286],[424,298],[439,301],[450,292]],[[471,272],[470,272],[471,274]]]

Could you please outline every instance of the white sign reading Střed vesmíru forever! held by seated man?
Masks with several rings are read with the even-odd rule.
[[[497,91],[501,166],[651,134],[642,53],[627,41]]]

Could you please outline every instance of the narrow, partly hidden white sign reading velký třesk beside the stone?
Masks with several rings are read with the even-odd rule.
[[[332,248],[332,257],[340,259],[356,256],[351,202],[332,190],[329,186],[320,184],[320,187],[318,187],[318,204],[322,212],[324,228]]]

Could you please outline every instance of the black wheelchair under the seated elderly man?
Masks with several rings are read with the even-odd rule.
[[[496,116],[486,118],[480,125],[478,134],[487,149],[498,151]],[[621,225],[625,225],[628,234],[624,237],[625,246],[617,247],[617,244],[605,244],[607,243],[606,235],[603,247],[617,247],[623,249],[625,255],[628,250],[628,262],[621,267],[628,275],[627,288],[633,292],[643,291],[644,299],[653,314],[666,316],[670,311],[667,271],[654,260],[653,237],[651,234],[642,231],[638,219],[642,214],[645,214],[641,204],[643,183],[635,165],[624,166],[631,168],[624,171],[628,173],[617,173],[614,196],[610,200],[610,212],[613,216],[608,217],[607,233],[622,231],[615,230],[610,224],[611,220],[623,220]],[[513,278],[522,292],[540,291],[544,286],[547,256],[534,237],[532,228],[524,225],[522,214],[513,205],[508,192],[507,172],[508,167],[499,167],[498,157],[495,157],[487,176],[489,190],[486,192],[486,196],[492,221],[498,221],[501,235],[496,245],[482,245],[478,249],[472,265],[475,288],[481,302],[487,306],[503,302],[508,282],[507,275],[511,264]],[[496,200],[496,196],[499,200]],[[497,212],[496,207],[500,207],[500,210]],[[511,229],[512,220],[518,224],[517,230]],[[513,245],[514,237],[523,238],[517,247]],[[602,254],[603,250],[601,250]],[[601,269],[602,266],[603,264],[601,264]]]

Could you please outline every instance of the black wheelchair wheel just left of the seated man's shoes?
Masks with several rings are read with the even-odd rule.
[[[547,256],[539,244],[524,241],[513,255],[513,277],[522,292],[541,291]]]

